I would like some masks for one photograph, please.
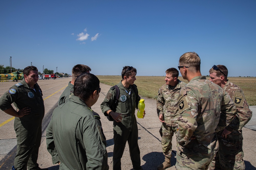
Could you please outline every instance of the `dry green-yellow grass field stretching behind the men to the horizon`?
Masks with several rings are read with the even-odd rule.
[[[122,79],[121,76],[97,75],[101,83],[116,85]],[[137,85],[139,95],[147,98],[156,99],[159,88],[165,84],[165,76],[136,76],[134,84]],[[207,77],[209,79],[209,77]],[[241,87],[249,106],[256,105],[256,77],[228,77],[229,81]],[[179,77],[179,80],[188,83]]]

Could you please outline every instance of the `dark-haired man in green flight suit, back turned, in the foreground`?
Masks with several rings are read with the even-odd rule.
[[[53,111],[46,129],[46,145],[52,163],[60,163],[60,170],[109,169],[100,116],[90,109],[99,95],[99,79],[83,73],[74,82],[70,101]]]

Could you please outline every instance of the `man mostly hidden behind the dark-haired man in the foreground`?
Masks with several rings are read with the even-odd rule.
[[[76,78],[82,73],[90,73],[90,71],[91,68],[83,64],[77,64],[72,68],[72,80],[68,83],[68,87],[66,87],[63,93],[60,95],[59,106],[68,102],[70,97],[74,95],[74,82]]]

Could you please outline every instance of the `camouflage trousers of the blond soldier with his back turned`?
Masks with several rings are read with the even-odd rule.
[[[211,163],[212,159],[214,158],[214,155],[211,155],[208,158],[203,158],[196,155],[191,155],[188,153],[184,153],[180,150],[177,150],[176,154],[176,169],[177,170],[186,170],[186,169],[194,169],[199,170],[208,169],[209,164]]]

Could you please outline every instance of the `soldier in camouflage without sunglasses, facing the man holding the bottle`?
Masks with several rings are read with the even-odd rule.
[[[171,167],[172,156],[172,137],[177,130],[177,120],[179,114],[177,99],[179,91],[186,83],[178,79],[179,71],[175,68],[169,68],[165,71],[166,84],[160,87],[158,98],[156,100],[156,110],[162,126],[159,130],[162,137],[162,149],[165,156],[165,161],[157,167],[158,170],[163,170]],[[175,146],[176,147],[176,146]]]

